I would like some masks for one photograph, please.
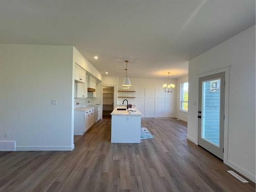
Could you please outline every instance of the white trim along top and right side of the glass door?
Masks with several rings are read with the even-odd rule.
[[[217,70],[212,70],[212,71],[208,71],[206,73],[203,74],[199,74],[197,75],[198,77],[198,82],[199,82],[199,78],[201,77],[205,77],[205,76],[209,76],[209,75],[214,75],[217,73],[222,73],[225,72],[225,119],[224,119],[224,154],[223,154],[223,162],[225,164],[228,164],[228,160],[227,160],[227,150],[228,150],[228,98],[229,98],[229,70],[230,70],[230,66],[224,67],[224,68],[220,68]],[[197,129],[198,129],[198,125],[197,125]],[[198,143],[198,142],[197,142]]]

